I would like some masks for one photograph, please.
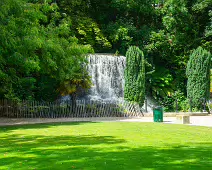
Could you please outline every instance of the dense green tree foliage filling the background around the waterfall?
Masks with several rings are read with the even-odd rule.
[[[173,109],[187,95],[192,50],[212,52],[211,7],[211,0],[1,0],[0,98],[76,96],[91,86],[85,54],[125,55],[137,46],[146,71],[154,70],[146,93]]]

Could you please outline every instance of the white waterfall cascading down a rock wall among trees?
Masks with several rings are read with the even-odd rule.
[[[124,97],[124,56],[93,54],[88,56],[88,72],[93,86],[91,100],[117,101]]]

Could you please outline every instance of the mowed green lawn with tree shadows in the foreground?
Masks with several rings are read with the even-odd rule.
[[[161,123],[0,127],[0,169],[212,169],[212,128]]]

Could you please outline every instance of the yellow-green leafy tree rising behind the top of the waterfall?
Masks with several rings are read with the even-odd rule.
[[[111,44],[99,25],[89,15],[89,12],[94,10],[93,7],[91,8],[94,2],[93,0],[60,0],[57,4],[60,12],[72,19],[73,32],[80,44],[89,44],[96,52],[107,51],[111,48]],[[99,16],[97,13],[95,15]]]

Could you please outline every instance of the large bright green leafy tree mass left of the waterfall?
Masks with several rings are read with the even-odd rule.
[[[90,86],[83,64],[92,50],[77,43],[56,4],[0,4],[1,98],[55,100]]]

